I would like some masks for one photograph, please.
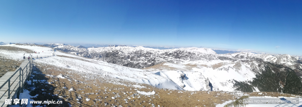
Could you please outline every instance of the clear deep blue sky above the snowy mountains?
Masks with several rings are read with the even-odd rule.
[[[0,41],[302,55],[302,1],[2,0]]]

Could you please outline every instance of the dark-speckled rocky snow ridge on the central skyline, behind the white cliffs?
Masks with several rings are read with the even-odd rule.
[[[87,49],[63,44],[51,44],[50,46],[57,46],[54,47],[57,50],[82,57],[104,60],[109,63],[140,69],[163,62],[181,63],[198,60],[214,60],[215,57],[213,55],[216,54],[216,52],[211,49],[196,47],[159,50],[128,46],[90,47]]]

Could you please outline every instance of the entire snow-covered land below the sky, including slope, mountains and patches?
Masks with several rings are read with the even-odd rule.
[[[111,77],[149,84],[158,88],[180,90],[178,93],[186,90],[263,92],[267,88],[274,88],[270,92],[287,92],[286,90],[295,88],[290,86],[296,83],[301,84],[302,79],[302,60],[300,60],[302,56],[288,54],[271,55],[250,52],[217,54],[210,48],[160,50],[124,45],[86,48],[66,44],[43,44],[43,46],[5,44],[0,47],[16,47],[40,52],[38,58],[34,59],[34,63],[72,69],[85,74],[86,78]],[[21,60],[24,55],[23,51],[6,49],[0,49],[0,53],[1,56],[13,60]],[[25,53],[25,56],[29,54]],[[265,76],[266,71],[271,71],[272,75],[280,75],[280,72],[283,72],[281,74],[285,75],[284,78],[289,78],[288,75],[293,74],[294,79],[286,78],[279,81],[276,76],[278,80],[276,80],[276,87],[266,86],[266,83],[260,85],[254,83],[262,81],[261,78]],[[57,77],[65,78],[62,75]],[[297,78],[298,81],[295,80]],[[287,82],[290,79],[293,81]],[[240,84],[249,88],[239,90]],[[74,90],[72,87],[69,88],[70,91]],[[137,90],[137,92],[143,95],[155,94],[154,91]],[[112,99],[115,98],[112,97]]]

